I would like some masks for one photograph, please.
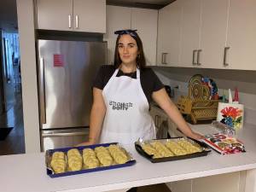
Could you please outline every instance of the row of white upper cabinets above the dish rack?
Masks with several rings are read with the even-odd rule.
[[[157,63],[256,70],[255,18],[253,0],[177,0],[160,9]]]

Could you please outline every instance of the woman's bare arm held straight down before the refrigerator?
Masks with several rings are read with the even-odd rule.
[[[102,123],[106,113],[106,106],[102,96],[102,90],[93,88],[93,103],[90,110],[89,141],[78,146],[96,144],[102,131]]]

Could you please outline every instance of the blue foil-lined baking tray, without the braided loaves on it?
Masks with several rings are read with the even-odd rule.
[[[119,145],[119,143],[102,143],[102,144],[73,147],[73,148],[78,148],[79,151],[81,152],[84,148],[96,148],[96,147],[100,147],[100,146],[108,147],[111,144]],[[122,146],[119,146],[119,147],[122,148]],[[72,149],[72,148],[55,148],[55,149],[49,149],[45,152],[46,171],[47,171],[47,175],[49,175],[49,177],[65,177],[65,176],[77,175],[77,174],[82,174],[82,173],[100,172],[100,171],[105,171],[105,170],[109,170],[109,169],[116,169],[116,168],[121,168],[121,167],[125,167],[125,166],[132,166],[136,163],[136,160],[134,160],[132,158],[131,154],[129,154],[129,152],[125,149],[127,154],[130,156],[130,158],[129,158],[130,160],[127,161],[125,164],[117,164],[117,165],[113,165],[113,166],[100,166],[100,167],[96,167],[96,168],[92,168],[92,169],[82,169],[80,171],[75,171],[75,172],[55,173],[49,165],[50,160],[51,160],[51,155],[56,151],[61,151],[61,152],[64,152],[65,154],[67,154],[67,151],[69,149]]]

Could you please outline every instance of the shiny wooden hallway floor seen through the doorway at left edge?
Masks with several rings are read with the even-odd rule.
[[[15,94],[14,107],[0,115],[0,127],[14,127],[5,140],[0,141],[0,155],[24,154],[24,124],[21,94]]]

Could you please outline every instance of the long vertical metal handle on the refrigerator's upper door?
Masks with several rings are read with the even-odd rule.
[[[45,112],[45,94],[44,94],[44,58],[40,57],[40,70],[39,70],[39,92],[40,92],[40,119],[42,124],[46,124]]]

